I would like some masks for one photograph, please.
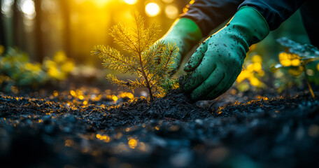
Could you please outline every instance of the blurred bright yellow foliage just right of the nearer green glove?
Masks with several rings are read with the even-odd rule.
[[[236,79],[236,88],[241,92],[259,90],[266,87],[260,80],[264,76],[262,57],[256,54],[255,48],[256,45],[250,46],[243,63],[243,70]]]

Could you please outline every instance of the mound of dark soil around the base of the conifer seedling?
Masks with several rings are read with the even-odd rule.
[[[135,99],[133,102],[108,109],[110,115],[101,119],[104,129],[110,127],[132,126],[149,120],[182,120],[213,117],[208,107],[197,106],[180,90],[171,90],[163,98],[153,102]]]

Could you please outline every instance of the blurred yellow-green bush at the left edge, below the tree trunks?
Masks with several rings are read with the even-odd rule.
[[[0,56],[0,90],[15,94],[19,87],[36,89],[56,80],[65,80],[74,67],[63,52],[57,52],[52,60],[45,59],[43,64],[30,62],[26,53],[15,48],[8,48]]]

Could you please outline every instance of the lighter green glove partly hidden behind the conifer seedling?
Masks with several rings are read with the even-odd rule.
[[[159,40],[163,40],[164,43],[176,43],[179,48],[174,71],[178,69],[180,60],[186,53],[199,42],[201,36],[201,30],[194,21],[188,18],[180,18],[173,23],[171,29]]]

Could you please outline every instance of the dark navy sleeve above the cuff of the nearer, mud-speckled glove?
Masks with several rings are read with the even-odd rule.
[[[295,13],[304,1],[306,0],[246,0],[239,8],[250,6],[257,9],[267,21],[269,29],[274,30]]]

